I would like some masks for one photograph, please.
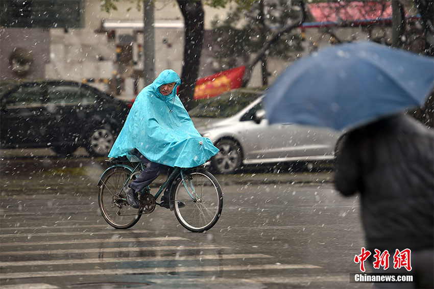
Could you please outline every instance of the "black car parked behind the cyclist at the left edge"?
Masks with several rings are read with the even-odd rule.
[[[86,84],[67,81],[0,85],[1,148],[50,147],[59,154],[84,146],[107,156],[129,106]]]

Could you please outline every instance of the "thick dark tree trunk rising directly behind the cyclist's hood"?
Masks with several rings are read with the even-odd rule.
[[[188,111],[194,107],[194,94],[203,43],[204,11],[200,0],[177,0],[177,3],[185,25],[184,61],[179,95]]]

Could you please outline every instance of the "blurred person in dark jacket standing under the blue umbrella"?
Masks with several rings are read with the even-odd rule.
[[[348,132],[336,154],[334,185],[344,196],[360,193],[367,250],[388,250],[390,273],[406,272],[393,268],[396,249],[411,250],[414,282],[375,286],[434,288],[433,131],[393,115]]]

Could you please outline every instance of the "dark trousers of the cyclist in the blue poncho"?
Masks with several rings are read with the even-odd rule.
[[[131,151],[132,154],[138,157],[140,162],[143,164],[143,171],[139,176],[130,184],[130,188],[134,192],[140,192],[144,188],[148,187],[152,181],[154,181],[161,172],[167,171],[167,176],[169,176],[173,168],[167,167],[161,164],[151,162],[146,157],[144,157],[138,150]],[[172,187],[172,182],[168,183],[166,190],[164,191],[163,197],[161,199],[168,200],[170,197],[170,188]]]

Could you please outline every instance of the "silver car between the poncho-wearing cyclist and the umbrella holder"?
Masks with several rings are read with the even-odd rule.
[[[263,91],[238,89],[202,100],[188,113],[202,136],[220,149],[211,159],[219,173],[242,165],[332,160],[339,134],[293,123],[269,125]]]

